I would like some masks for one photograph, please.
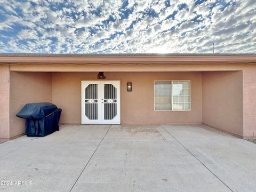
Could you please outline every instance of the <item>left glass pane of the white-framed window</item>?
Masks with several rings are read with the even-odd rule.
[[[155,110],[172,109],[172,82],[155,82]]]

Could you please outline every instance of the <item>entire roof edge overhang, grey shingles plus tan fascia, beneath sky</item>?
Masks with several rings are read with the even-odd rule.
[[[0,54],[0,63],[17,64],[231,64],[256,63],[256,54]]]

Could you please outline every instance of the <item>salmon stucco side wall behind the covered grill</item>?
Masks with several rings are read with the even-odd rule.
[[[16,114],[26,103],[52,101],[52,76],[11,71],[10,79],[10,138],[13,138],[25,132],[25,119]]]

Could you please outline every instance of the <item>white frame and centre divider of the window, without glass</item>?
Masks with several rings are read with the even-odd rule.
[[[172,109],[156,109],[156,101],[155,101],[155,82],[171,82],[171,100],[172,100]],[[173,82],[189,82],[189,109],[173,109]],[[154,111],[190,111],[191,110],[191,82],[190,80],[161,80],[154,81]]]

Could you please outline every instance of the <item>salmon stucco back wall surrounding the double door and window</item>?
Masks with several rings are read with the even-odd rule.
[[[52,102],[62,108],[60,123],[81,124],[81,80],[98,73],[52,73]],[[105,73],[121,80],[121,123],[201,123],[202,73]],[[154,81],[190,80],[191,111],[154,111]],[[132,82],[132,92],[126,83]]]

